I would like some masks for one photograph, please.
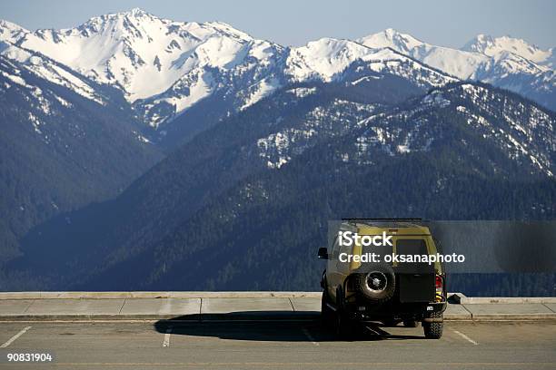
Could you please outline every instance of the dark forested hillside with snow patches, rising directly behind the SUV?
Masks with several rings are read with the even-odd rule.
[[[14,266],[51,287],[316,289],[329,219],[554,217],[553,113],[487,85],[396,105],[349,101],[345,85],[308,88],[322,92],[285,89],[199,134],[117,200],[35,229]],[[54,254],[41,253],[45,242]]]

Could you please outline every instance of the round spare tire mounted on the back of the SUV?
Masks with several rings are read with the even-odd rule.
[[[359,273],[355,277],[355,287],[363,297],[372,303],[383,303],[393,297],[396,277],[392,267],[386,264],[372,264],[371,271]]]

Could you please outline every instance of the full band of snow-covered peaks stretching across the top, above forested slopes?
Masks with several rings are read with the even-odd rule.
[[[118,89],[157,139],[171,129],[166,123],[207,98],[212,106],[204,111],[219,120],[288,84],[352,81],[353,73],[362,79],[365,73],[394,74],[423,88],[480,80],[552,108],[556,104],[552,51],[503,37],[480,35],[457,50],[388,29],[356,42],[323,38],[291,48],[229,24],[175,22],[132,9],[62,30],[31,32],[1,21],[0,40],[7,45],[0,53],[8,58],[34,65],[29,54],[38,55],[81,75],[80,80]],[[53,81],[48,64],[43,63],[45,78]],[[35,72],[40,73],[36,66]]]

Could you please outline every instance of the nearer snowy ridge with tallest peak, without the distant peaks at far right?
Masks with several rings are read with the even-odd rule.
[[[94,17],[64,30],[30,32],[3,22],[0,37],[12,44],[4,52],[8,57],[22,59],[15,48],[33,51],[118,88],[154,128],[208,96],[218,95],[229,110],[239,111],[287,83],[337,79],[360,59],[372,60],[375,70],[385,60],[407,61],[347,40],[323,39],[292,49],[228,24],[174,22],[141,9]]]

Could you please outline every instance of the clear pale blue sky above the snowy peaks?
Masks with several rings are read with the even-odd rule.
[[[553,0],[17,0],[2,3],[0,18],[32,30],[67,28],[134,7],[179,21],[223,21],[288,45],[324,36],[353,39],[392,27],[446,46],[460,47],[476,34],[510,34],[541,47],[556,46]]]

